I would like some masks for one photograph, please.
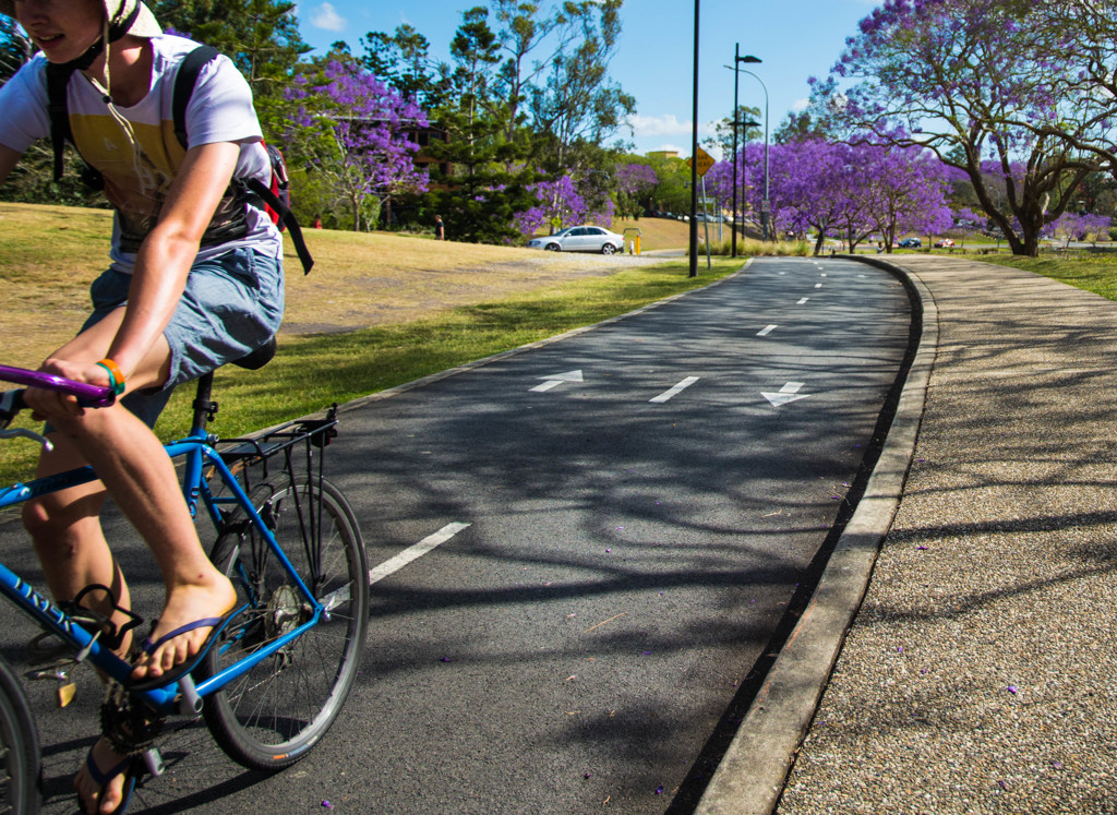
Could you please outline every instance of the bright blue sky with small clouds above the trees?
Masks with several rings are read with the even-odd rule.
[[[767,87],[771,130],[802,106],[810,76],[824,77],[841,55],[846,38],[879,4],[876,0],[699,0],[699,140],[709,123],[733,110],[734,45],[763,59],[745,65],[760,82],[739,77],[743,105],[764,108]],[[546,0],[537,0],[548,8]],[[369,0],[303,0],[298,19],[306,42],[323,51],[345,40],[360,53],[369,31],[391,34],[410,23],[430,41],[431,56],[446,59],[461,12],[484,0],[420,0],[410,3]],[[631,139],[638,152],[678,150],[690,154],[694,65],[694,4],[666,0],[626,0],[620,50],[611,65],[615,82],[637,99]],[[495,26],[495,21],[491,23]]]

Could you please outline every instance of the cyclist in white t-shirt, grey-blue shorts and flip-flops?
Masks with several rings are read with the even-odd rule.
[[[40,49],[0,87],[0,182],[37,139],[50,135],[47,65],[74,67],[67,107],[74,142],[99,171],[115,209],[112,265],[94,281],[93,313],[40,370],[114,387],[122,400],[83,409],[71,397],[29,389],[52,452],[39,475],[92,464],[101,483],[25,506],[23,523],[57,600],[104,585],[89,605],[120,625],[128,590],[99,512],[112,494],[155,556],[162,613],[144,641],[134,680],[175,675],[206,647],[235,591],[199,542],[175,473],[150,429],[184,381],[265,344],[283,316],[283,241],[238,180],[267,182],[270,162],[251,92],[218,57],[187,107],[185,148],[172,126],[174,77],[197,44],[163,35],[139,0],[0,0]],[[132,651],[125,634],[117,653]],[[121,803],[126,756],[102,738],[75,787],[87,812]]]

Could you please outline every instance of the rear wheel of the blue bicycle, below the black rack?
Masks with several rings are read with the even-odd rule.
[[[226,755],[242,767],[276,771],[306,755],[333,724],[349,696],[369,628],[369,569],[353,511],[328,481],[303,480],[278,490],[265,484],[252,497],[315,597],[342,597],[328,620],[321,620],[206,699],[206,723]],[[315,537],[321,543],[321,568],[315,577],[304,541],[312,537],[307,512],[319,497],[321,523]],[[214,565],[255,610],[230,623],[226,644],[214,647],[200,665],[204,676],[308,618],[306,605],[293,600],[296,589],[289,575],[254,530],[227,532],[213,547]]]

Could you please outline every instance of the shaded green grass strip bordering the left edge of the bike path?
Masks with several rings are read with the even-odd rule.
[[[258,371],[218,371],[221,404],[213,430],[233,437],[315,413],[500,351],[623,314],[698,288],[741,268],[744,260],[714,258],[698,277],[687,262],[628,268],[514,296],[465,305],[433,316],[349,333],[280,337],[280,352]],[[189,429],[193,388],[183,386],[160,419],[164,439]],[[30,425],[28,425],[30,426]],[[0,445],[0,483],[27,478],[37,455],[30,442]]]

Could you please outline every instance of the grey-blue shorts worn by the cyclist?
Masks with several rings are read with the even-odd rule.
[[[82,330],[127,302],[132,276],[108,269],[89,286],[93,313]],[[262,345],[279,329],[283,262],[255,249],[230,249],[197,262],[170,324],[171,373],[162,388],[133,391],[122,404],[154,426],[176,385],[189,382]]]

